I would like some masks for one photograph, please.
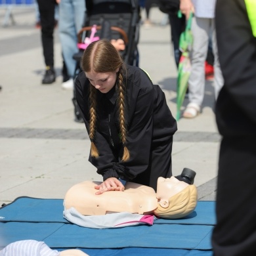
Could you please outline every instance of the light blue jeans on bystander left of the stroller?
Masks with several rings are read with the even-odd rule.
[[[68,75],[74,77],[76,61],[73,55],[77,53],[77,33],[85,20],[85,0],[61,0],[58,29],[62,54]]]

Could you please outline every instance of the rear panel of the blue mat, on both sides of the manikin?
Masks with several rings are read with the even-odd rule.
[[[17,198],[14,202],[0,208],[0,222],[47,222],[69,223],[63,218],[62,199],[39,199],[26,196]],[[215,202],[199,201],[193,213],[183,219],[158,219],[155,224],[215,224]],[[3,219],[1,219],[3,217]]]

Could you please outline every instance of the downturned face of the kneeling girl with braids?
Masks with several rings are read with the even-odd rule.
[[[106,73],[85,72],[85,75],[100,93],[108,93],[116,84],[117,72],[118,69]]]

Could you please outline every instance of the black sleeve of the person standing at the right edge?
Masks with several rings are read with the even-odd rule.
[[[224,90],[255,124],[256,39],[244,0],[217,0],[215,22]]]

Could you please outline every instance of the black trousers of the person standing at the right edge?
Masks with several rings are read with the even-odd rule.
[[[256,255],[256,138],[223,139],[217,183],[215,256]]]

